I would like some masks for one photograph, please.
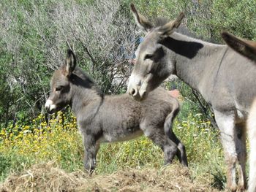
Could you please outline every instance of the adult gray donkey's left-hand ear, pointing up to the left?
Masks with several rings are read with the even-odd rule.
[[[133,16],[135,17],[137,25],[142,28],[144,31],[149,31],[151,28],[153,28],[153,24],[151,24],[147,18],[145,18],[143,15],[141,15],[136,9],[135,5],[131,4],[131,11]]]

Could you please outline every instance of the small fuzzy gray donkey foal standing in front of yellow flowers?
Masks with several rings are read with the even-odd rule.
[[[163,88],[157,88],[141,102],[128,94],[103,96],[90,77],[76,67],[71,50],[67,51],[64,65],[53,73],[50,87],[45,109],[53,113],[68,104],[72,107],[83,136],[86,170],[95,168],[101,142],[124,141],[142,134],[161,147],[165,164],[177,155],[181,164],[188,165],[185,147],[172,131],[178,101]]]

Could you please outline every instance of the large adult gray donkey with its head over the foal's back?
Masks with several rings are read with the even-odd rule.
[[[136,100],[143,100],[170,74],[176,74],[200,92],[211,106],[220,130],[227,163],[227,188],[243,191],[246,188],[245,121],[256,94],[254,62],[227,45],[181,34],[178,27],[184,13],[174,21],[157,20],[154,25],[133,4],[131,9],[146,37],[136,50],[128,93]]]

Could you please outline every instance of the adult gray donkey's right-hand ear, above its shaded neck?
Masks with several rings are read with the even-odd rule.
[[[184,12],[181,12],[176,20],[170,21],[169,23],[166,23],[165,26],[159,28],[159,34],[161,34],[162,36],[169,36],[170,34],[172,34],[174,29],[178,28],[178,26],[181,25],[181,21],[183,20],[184,15]]]

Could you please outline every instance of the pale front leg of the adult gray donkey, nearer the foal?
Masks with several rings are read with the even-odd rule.
[[[214,115],[219,126],[222,147],[227,163],[227,188],[230,191],[236,191],[236,162],[238,161],[238,154],[236,153],[235,115],[219,111],[214,111]]]

